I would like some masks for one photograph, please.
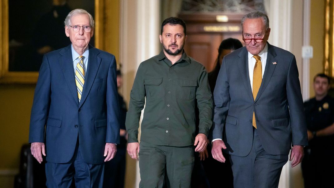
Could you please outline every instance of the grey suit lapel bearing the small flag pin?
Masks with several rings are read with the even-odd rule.
[[[255,102],[260,98],[262,95],[263,91],[266,89],[273,73],[276,67],[276,64],[273,62],[278,62],[276,57],[276,51],[272,45],[268,43],[268,55],[267,55],[267,63],[266,63],[266,68],[265,68],[265,73],[263,74],[261,86],[259,88],[258,95],[256,96]]]

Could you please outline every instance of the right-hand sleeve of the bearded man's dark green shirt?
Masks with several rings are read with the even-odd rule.
[[[197,107],[199,110],[198,133],[203,133],[208,137],[212,126],[212,94],[209,87],[207,72],[204,66],[200,69],[198,88],[196,90]]]

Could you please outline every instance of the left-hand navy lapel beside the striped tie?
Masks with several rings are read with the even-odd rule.
[[[69,90],[71,92],[71,95],[76,101],[76,104],[79,105],[78,94],[77,94],[76,85],[75,85],[71,45],[67,46],[66,48],[63,48],[59,53],[61,54],[61,57],[59,58],[59,64],[61,67],[61,71],[64,74],[64,77],[69,87]]]

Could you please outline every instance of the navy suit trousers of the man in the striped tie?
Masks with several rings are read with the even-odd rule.
[[[91,188],[103,185],[104,163],[87,164],[83,161],[80,148],[76,147],[74,156],[69,163],[45,163],[47,187],[71,187],[74,177],[75,187]]]

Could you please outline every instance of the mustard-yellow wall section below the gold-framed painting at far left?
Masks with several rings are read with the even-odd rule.
[[[0,85],[0,169],[19,166],[20,148],[28,142],[34,88],[32,84]]]

